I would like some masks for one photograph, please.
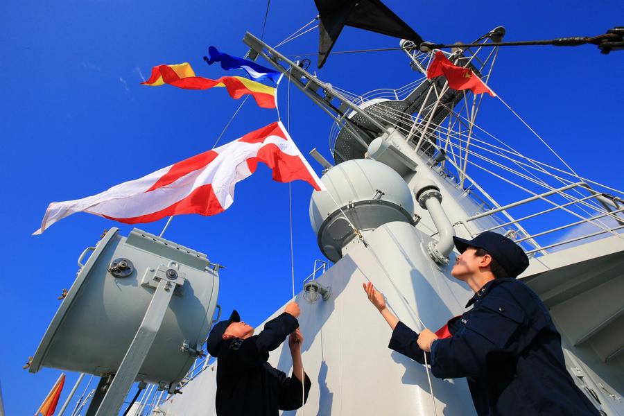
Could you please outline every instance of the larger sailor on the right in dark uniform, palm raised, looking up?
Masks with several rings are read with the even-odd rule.
[[[415,333],[364,285],[393,330],[388,347],[419,363],[426,354],[440,379],[466,377],[479,415],[599,415],[566,370],[546,306],[515,279],[528,267],[519,245],[494,232],[454,240],[461,254],[451,275],[475,294],[472,309],[436,333]]]

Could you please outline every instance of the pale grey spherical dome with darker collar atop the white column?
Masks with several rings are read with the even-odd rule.
[[[329,169],[321,180],[328,192],[312,194],[310,221],[319,248],[331,261],[340,260],[344,246],[356,235],[345,215],[360,231],[393,221],[413,223],[414,200],[408,185],[381,162],[347,160]]]

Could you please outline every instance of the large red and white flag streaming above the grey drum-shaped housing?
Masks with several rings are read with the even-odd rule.
[[[273,180],[304,180],[327,191],[280,121],[213,150],[183,160],[137,180],[124,182],[87,198],[52,202],[33,234],[76,212],[121,223],[149,223],[166,216],[225,211],[234,202],[234,185],[263,162]]]

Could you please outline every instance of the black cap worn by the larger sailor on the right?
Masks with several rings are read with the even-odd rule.
[[[453,236],[455,247],[462,253],[470,247],[483,248],[494,258],[509,277],[517,277],[528,267],[528,257],[522,248],[507,237],[495,232],[482,232],[472,240]]]

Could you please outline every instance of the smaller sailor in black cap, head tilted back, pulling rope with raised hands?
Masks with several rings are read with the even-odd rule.
[[[307,400],[311,382],[304,374],[301,360],[303,336],[298,329],[299,313],[299,305],[289,303],[284,313],[267,322],[255,336],[253,327],[241,322],[236,311],[228,320],[215,324],[208,336],[207,350],[211,356],[218,357],[215,399],[218,416],[277,416],[279,410],[295,410]],[[288,334],[293,357],[291,377],[267,362],[268,353],[279,347]]]

